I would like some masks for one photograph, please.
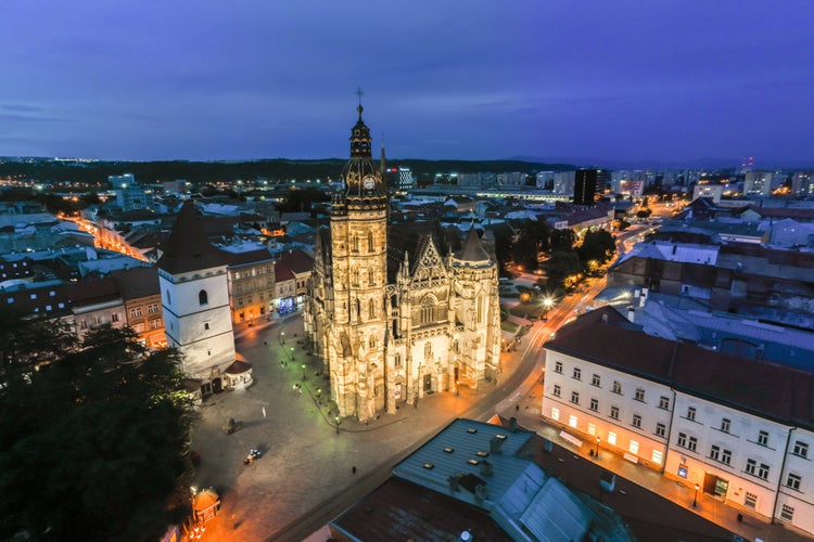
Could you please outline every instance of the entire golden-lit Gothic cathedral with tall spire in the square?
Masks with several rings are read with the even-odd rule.
[[[345,189],[333,195],[330,229],[317,234],[304,325],[340,415],[366,421],[424,393],[498,378],[500,315],[497,263],[474,229],[454,256],[421,224],[389,225],[358,111]]]

